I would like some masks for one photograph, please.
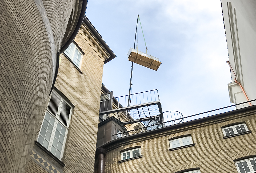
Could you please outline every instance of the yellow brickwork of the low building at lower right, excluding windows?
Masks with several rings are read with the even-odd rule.
[[[134,142],[121,145],[106,153],[106,173],[177,172],[199,167],[201,173],[237,173],[234,159],[256,154],[256,115],[236,115],[226,120],[188,125],[171,131],[159,132],[147,139],[134,138]],[[246,122],[251,133],[223,138],[221,127],[234,122]],[[162,135],[161,135],[162,134]],[[169,139],[190,134],[194,146],[169,151]],[[113,144],[113,145],[117,145]],[[120,151],[141,146],[142,158],[118,163]],[[104,147],[104,146],[103,146]],[[111,146],[113,147],[113,146]],[[95,170],[97,172],[97,165]]]

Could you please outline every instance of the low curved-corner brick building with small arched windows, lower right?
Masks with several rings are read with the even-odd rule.
[[[97,150],[106,173],[256,172],[255,117],[250,106],[120,137]],[[100,162],[96,157],[95,173]]]

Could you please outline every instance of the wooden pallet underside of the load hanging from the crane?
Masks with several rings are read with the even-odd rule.
[[[143,56],[139,53],[136,52],[131,52],[131,54],[128,57],[128,60],[131,62],[134,62],[136,64],[142,65],[144,67],[153,69],[155,71],[157,71],[157,69],[159,68],[159,66],[162,64],[159,61],[156,61],[154,59],[151,59],[149,57]]]

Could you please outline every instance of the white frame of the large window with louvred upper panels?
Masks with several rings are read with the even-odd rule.
[[[55,92],[59,97],[61,97],[56,91],[53,90],[52,92]],[[52,93],[51,93],[51,95],[52,95]],[[51,98],[51,97],[50,97],[50,98]],[[49,102],[50,102],[50,100],[49,100]],[[68,104],[68,103],[61,97],[61,103],[60,103],[60,105],[59,105],[58,113],[57,113],[57,116],[55,116],[50,110],[48,110],[49,102],[48,102],[48,104],[47,104],[47,109],[46,109],[46,112],[45,112],[45,116],[44,116],[44,118],[43,118],[43,122],[45,121],[46,113],[49,113],[51,116],[53,116],[53,117],[55,118],[55,121],[54,121],[53,130],[52,130],[52,133],[51,133],[51,138],[50,138],[50,141],[49,141],[49,145],[48,145],[48,147],[47,147],[46,149],[51,152],[51,147],[52,147],[54,135],[55,135],[55,132],[56,132],[56,129],[57,129],[57,124],[60,123],[62,126],[64,126],[64,127],[66,128],[65,136],[64,136],[64,140],[63,140],[63,146],[62,146],[62,149],[61,149],[61,155],[60,155],[60,158],[57,157],[58,159],[62,160],[63,152],[64,152],[64,148],[65,148],[65,144],[66,144],[66,139],[67,139],[67,133],[68,133],[68,130],[69,130],[69,124],[70,124],[71,114],[72,114],[73,108],[72,108],[72,106],[71,106],[70,104]],[[59,120],[59,116],[60,116],[61,107],[62,107],[63,102],[65,102],[67,105],[69,105],[69,106],[71,107],[71,111],[70,111],[69,120],[68,120],[67,125],[65,125],[64,123],[62,123],[62,122]],[[39,135],[40,135],[41,130],[42,130],[42,127],[43,127],[43,122],[42,122],[41,128],[40,128],[39,133],[38,133],[37,141],[38,141],[38,139],[39,139]]]

